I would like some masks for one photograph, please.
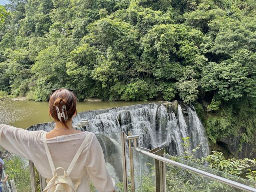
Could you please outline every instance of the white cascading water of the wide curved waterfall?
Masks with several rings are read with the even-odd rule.
[[[194,108],[180,104],[182,106],[178,105],[176,112],[172,105],[166,107],[158,103],[81,112],[73,118],[73,126],[96,133],[108,167],[119,182],[122,180],[122,150],[120,134],[113,134],[116,132],[138,134],[139,146],[149,149],[164,147],[171,155],[177,156],[183,152],[182,137],[189,136],[191,149],[201,144],[196,157],[210,153],[204,128]],[[53,127],[54,123],[49,122],[31,126],[28,130],[50,131]]]

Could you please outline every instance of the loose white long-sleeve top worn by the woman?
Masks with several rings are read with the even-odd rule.
[[[46,139],[55,168],[68,169],[74,155],[88,132],[57,136]],[[52,171],[46,156],[43,136],[45,131],[28,131],[9,125],[0,125],[0,146],[31,160],[44,178],[52,178]],[[106,170],[100,143],[93,134],[80,154],[69,176],[73,182],[82,177],[77,192],[90,192],[89,180],[100,192],[114,191],[114,182]]]

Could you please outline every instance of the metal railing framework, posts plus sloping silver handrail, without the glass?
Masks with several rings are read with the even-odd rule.
[[[229,180],[227,178],[165,158],[163,149],[154,148],[152,150],[148,150],[146,148],[139,147],[137,142],[137,139],[139,138],[138,135],[132,135],[130,132],[128,132],[128,136],[127,136],[124,132],[120,132],[120,136],[121,136],[121,147],[122,147],[122,175],[123,175],[123,183],[124,183],[124,192],[128,192],[129,185],[130,185],[131,191],[135,192],[134,157],[132,152],[133,149],[139,154],[143,154],[145,156],[148,156],[154,159],[156,192],[166,192],[166,164],[170,164],[178,168],[181,168],[183,170],[193,172],[194,174],[197,174],[199,176],[204,176],[206,178],[209,178],[210,180],[215,180],[223,184],[227,184],[236,189],[244,190],[247,192],[256,192],[256,188],[252,188],[245,184],[241,184],[239,182],[235,182],[233,180]],[[128,141],[128,148],[129,148],[130,182],[128,182],[128,159],[127,159],[127,153],[126,153],[126,148],[127,148],[126,141]],[[30,178],[31,178],[30,180],[31,180],[32,192],[36,192],[34,164],[30,161],[29,165],[30,165]],[[42,192],[46,186],[45,178],[43,178],[42,176],[40,176],[40,186],[41,186],[41,192]]]

